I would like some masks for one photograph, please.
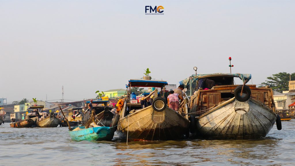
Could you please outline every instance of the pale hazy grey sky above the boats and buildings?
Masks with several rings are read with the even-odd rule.
[[[163,6],[146,15],[145,6]],[[0,97],[66,101],[128,79],[293,73],[295,1],[3,1]],[[237,82],[237,84],[241,84]]]

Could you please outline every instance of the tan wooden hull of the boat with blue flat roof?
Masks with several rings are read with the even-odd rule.
[[[128,127],[129,125],[129,127]],[[166,107],[157,112],[152,106],[121,118],[117,134],[130,141],[182,139],[189,128],[189,120]]]

